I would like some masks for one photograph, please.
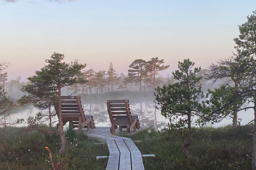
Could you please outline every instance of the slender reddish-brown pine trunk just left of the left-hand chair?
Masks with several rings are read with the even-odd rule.
[[[58,84],[58,109],[59,109],[59,134],[60,134],[60,140],[61,140],[61,146],[59,154],[64,154],[66,149],[66,138],[63,131],[63,122],[61,117],[61,95],[60,95],[60,85]]]

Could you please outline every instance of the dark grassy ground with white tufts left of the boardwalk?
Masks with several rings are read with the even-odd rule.
[[[56,128],[56,127],[55,127]],[[26,128],[8,127],[6,129],[7,146],[0,148],[1,170],[52,169],[47,146],[53,155],[53,162],[60,162],[60,169],[106,169],[107,159],[96,160],[96,156],[108,155],[107,145],[94,145],[86,135],[76,134],[67,129],[67,146],[65,154],[58,154],[60,137],[51,133],[47,141],[43,133],[27,131]],[[3,143],[0,134],[0,144]]]

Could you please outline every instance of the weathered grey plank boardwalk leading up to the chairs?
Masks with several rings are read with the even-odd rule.
[[[107,143],[109,158],[106,170],[144,170],[141,152],[132,139],[112,135],[109,127],[96,127],[84,133],[89,138]]]

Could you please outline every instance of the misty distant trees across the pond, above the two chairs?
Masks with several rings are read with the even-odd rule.
[[[78,91],[82,89],[82,94],[87,90],[89,94],[104,93],[116,90],[126,90],[128,86],[132,88],[133,85],[139,85],[139,91],[142,91],[144,83],[144,90],[155,89],[161,83],[160,79],[156,79],[156,74],[159,71],[167,69],[170,65],[163,65],[164,59],[158,57],[151,58],[149,61],[143,59],[136,59],[130,65],[128,75],[124,73],[120,75],[114,70],[112,62],[110,62],[108,71],[100,70],[95,72],[93,69],[85,70],[82,73],[82,78],[87,79],[86,84],[75,84],[73,88]]]

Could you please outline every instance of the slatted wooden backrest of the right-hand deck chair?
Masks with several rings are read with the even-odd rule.
[[[111,124],[129,124],[132,125],[129,100],[108,100],[108,115]]]

